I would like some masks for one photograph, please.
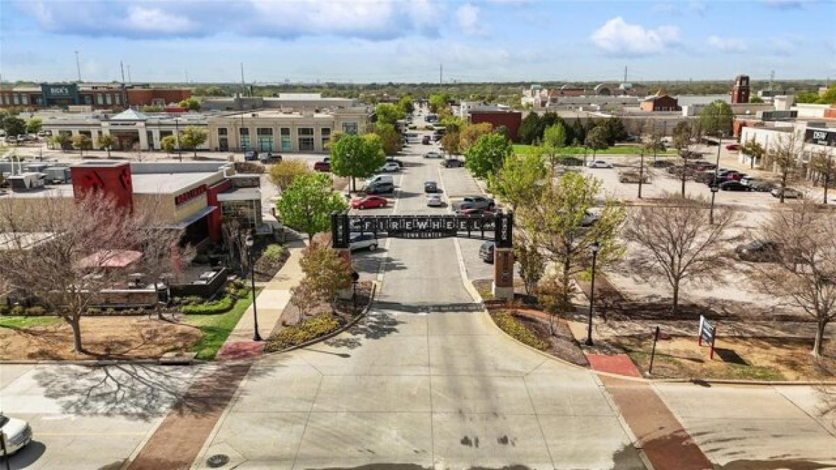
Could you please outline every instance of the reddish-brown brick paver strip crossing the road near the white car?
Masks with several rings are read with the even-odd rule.
[[[189,386],[128,470],[191,467],[251,365],[252,361],[222,363]]]

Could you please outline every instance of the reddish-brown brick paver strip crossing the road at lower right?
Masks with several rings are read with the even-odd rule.
[[[609,375],[600,378],[655,470],[714,468],[650,384]]]

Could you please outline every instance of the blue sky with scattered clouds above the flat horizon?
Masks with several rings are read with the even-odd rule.
[[[5,81],[836,78],[836,0],[0,0]]]

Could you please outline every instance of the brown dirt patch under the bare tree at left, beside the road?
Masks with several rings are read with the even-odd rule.
[[[188,324],[145,317],[81,319],[81,340],[88,354],[73,351],[73,333],[59,324],[20,330],[0,328],[0,360],[154,359],[171,350],[187,350],[201,338]]]

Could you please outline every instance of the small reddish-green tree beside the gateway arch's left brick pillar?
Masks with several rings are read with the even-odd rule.
[[[299,266],[308,289],[325,299],[334,309],[339,291],[351,286],[349,260],[339,256],[325,243],[310,243],[302,253]]]

